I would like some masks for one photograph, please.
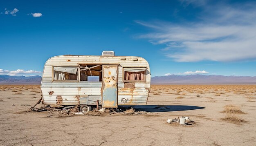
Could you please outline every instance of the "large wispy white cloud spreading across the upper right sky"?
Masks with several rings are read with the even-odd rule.
[[[186,4],[196,4],[184,0]],[[205,1],[207,2],[207,1]],[[256,59],[256,2],[236,5],[198,5],[199,19],[185,24],[143,22],[153,33],[139,35],[152,44],[166,44],[162,52],[176,62],[229,62]],[[200,20],[200,21],[199,21]]]

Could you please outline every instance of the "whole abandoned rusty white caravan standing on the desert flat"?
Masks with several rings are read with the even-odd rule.
[[[141,57],[60,55],[46,61],[41,82],[45,105],[79,105],[83,112],[93,107],[146,105],[150,69]]]

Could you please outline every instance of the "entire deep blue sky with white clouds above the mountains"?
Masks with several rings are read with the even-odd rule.
[[[2,0],[0,75],[55,55],[141,56],[152,76],[256,76],[256,2]]]

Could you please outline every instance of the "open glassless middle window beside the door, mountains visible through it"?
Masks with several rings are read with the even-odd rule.
[[[80,81],[101,82],[102,65],[80,64]]]

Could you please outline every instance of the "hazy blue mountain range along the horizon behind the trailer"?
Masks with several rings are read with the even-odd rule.
[[[0,84],[40,84],[42,77],[0,75]],[[93,80],[99,80],[92,78]],[[151,84],[256,84],[256,76],[168,75],[151,78]]]

